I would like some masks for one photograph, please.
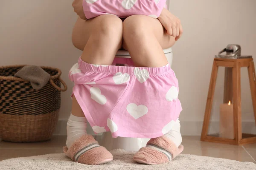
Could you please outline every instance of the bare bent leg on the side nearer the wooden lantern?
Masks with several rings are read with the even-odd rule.
[[[175,37],[166,34],[159,20],[133,15],[123,23],[123,45],[136,66],[161,67],[168,63],[163,49],[175,44]]]

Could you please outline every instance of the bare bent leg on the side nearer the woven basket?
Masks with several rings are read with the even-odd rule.
[[[87,63],[111,65],[116,52],[122,47],[122,20],[113,15],[82,20],[78,18],[73,28],[73,45],[83,50],[81,59]],[[84,117],[76,98],[73,97],[72,114]]]

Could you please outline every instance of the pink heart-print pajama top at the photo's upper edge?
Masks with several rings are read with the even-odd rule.
[[[157,18],[164,7],[166,0],[83,0],[87,19],[102,14],[113,14],[120,18],[142,14]]]

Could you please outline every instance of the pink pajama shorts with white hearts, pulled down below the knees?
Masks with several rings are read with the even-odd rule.
[[[182,111],[179,87],[169,65],[133,67],[131,59],[116,65],[92,65],[79,58],[69,72],[73,95],[95,133],[113,137],[156,138],[172,129]]]

